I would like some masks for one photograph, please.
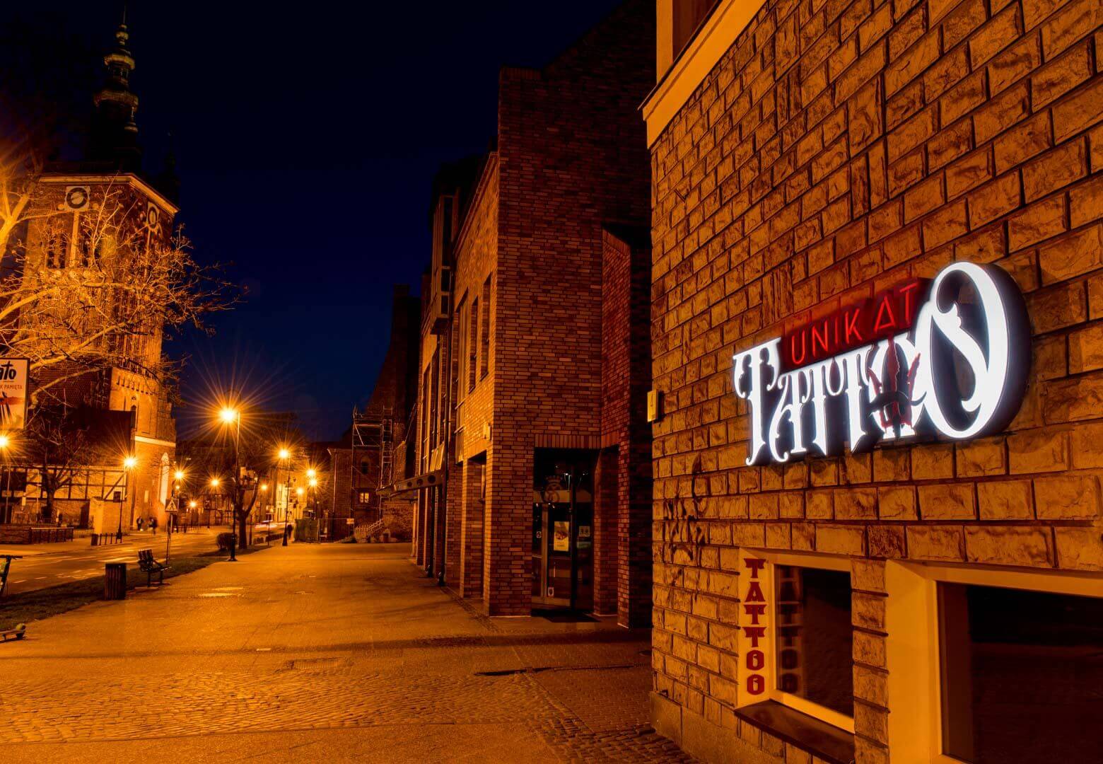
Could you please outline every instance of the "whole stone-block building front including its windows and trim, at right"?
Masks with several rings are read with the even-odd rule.
[[[1082,682],[1099,680],[1085,656],[1100,646],[1103,602],[1100,4],[657,8],[658,85],[643,109],[665,400],[656,729],[710,761],[1093,758]],[[954,272],[962,263],[985,267]],[[995,364],[1004,314],[988,312],[996,298],[978,285],[1008,274],[1014,286],[996,294],[1014,312],[1021,293],[1028,319],[1000,367],[1006,379],[1026,371],[1009,421],[978,438],[904,437],[907,417],[917,432],[933,421],[934,386],[898,408],[870,394],[853,411],[888,416],[895,436],[801,457],[803,436],[837,423],[817,418],[824,396],[802,392],[803,367],[774,378],[790,385],[773,389],[792,395],[788,418],[757,429],[765,399],[741,393],[769,383],[748,381],[773,364],[760,348],[783,338],[779,363],[796,367],[786,343],[816,347],[802,327],[835,326],[837,311],[879,305],[910,279],[966,272],[976,291],[933,295],[881,340],[885,358],[901,349],[908,362],[900,390],[934,374],[930,384],[968,395],[982,376],[962,376],[956,356],[909,356],[908,343],[973,341],[949,323],[917,333],[960,310],[966,335],[989,335],[974,363]],[[856,358],[867,364],[856,373],[872,369],[871,354]],[[939,363],[950,365],[931,372]],[[767,456],[785,437],[790,458]]]

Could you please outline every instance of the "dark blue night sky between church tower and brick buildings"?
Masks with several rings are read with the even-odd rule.
[[[178,221],[248,289],[213,338],[170,348],[190,359],[181,429],[234,386],[296,411],[309,438],[340,436],[383,362],[392,285],[419,288],[433,172],[494,135],[500,66],[546,64],[615,6],[131,1],[147,169],[171,131]],[[120,8],[6,10],[0,71],[88,109]]]

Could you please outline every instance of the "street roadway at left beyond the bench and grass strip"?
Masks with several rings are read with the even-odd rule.
[[[214,551],[217,548],[215,535],[225,530],[225,528],[201,528],[189,529],[186,533],[173,533],[172,556]],[[22,560],[11,562],[8,594],[103,575],[105,562],[128,562],[137,566],[139,549],[152,549],[153,556],[163,560],[165,540],[165,534],[161,531],[158,531],[157,535],[144,531],[125,535],[122,543],[107,547],[93,547],[89,539],[74,539],[57,544],[3,545],[0,548],[0,554],[24,555]]]

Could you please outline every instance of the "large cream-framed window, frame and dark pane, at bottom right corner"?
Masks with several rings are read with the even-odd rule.
[[[1075,746],[1097,741],[1097,574],[896,561],[885,585],[893,758],[1094,761]]]

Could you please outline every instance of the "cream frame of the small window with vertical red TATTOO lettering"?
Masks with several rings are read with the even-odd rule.
[[[844,713],[829,709],[826,705],[821,705],[806,698],[801,698],[800,696],[793,694],[791,692],[785,692],[778,688],[778,660],[780,650],[778,649],[778,594],[777,594],[777,582],[774,580],[774,569],[778,565],[788,565],[792,567],[815,567],[825,571],[838,571],[844,572],[850,577],[850,602],[852,602],[852,614],[853,614],[853,602],[854,602],[854,572],[850,565],[850,558],[846,556],[834,556],[825,554],[814,554],[814,553],[800,553],[800,552],[779,552],[775,550],[762,550],[762,549],[745,549],[740,548],[739,554],[739,574],[740,577],[747,575],[747,566],[743,564],[746,558],[758,558],[767,561],[767,565],[762,569],[765,574],[765,584],[763,588],[770,592],[769,594],[769,620],[767,622],[770,627],[772,627],[773,634],[768,635],[768,639],[771,644],[771,649],[773,650],[768,661],[769,673],[767,677],[767,692],[763,696],[756,697],[751,702],[740,703],[740,705],[751,705],[756,702],[762,702],[764,700],[772,700],[780,703],[786,708],[793,709],[794,711],[800,711],[801,713],[807,714],[813,719],[817,719],[824,723],[831,724],[844,732],[854,734],[854,717],[847,717]],[[740,626],[745,625],[743,616],[740,617]],[[853,635],[853,615],[852,615],[852,635]],[[740,634],[743,630],[740,628]],[[850,638],[850,655],[852,655],[852,666],[854,660],[854,638]],[[746,650],[742,645],[740,645],[740,655]],[[852,668],[853,671],[853,668]],[[742,687],[740,687],[740,692],[742,693]]]

